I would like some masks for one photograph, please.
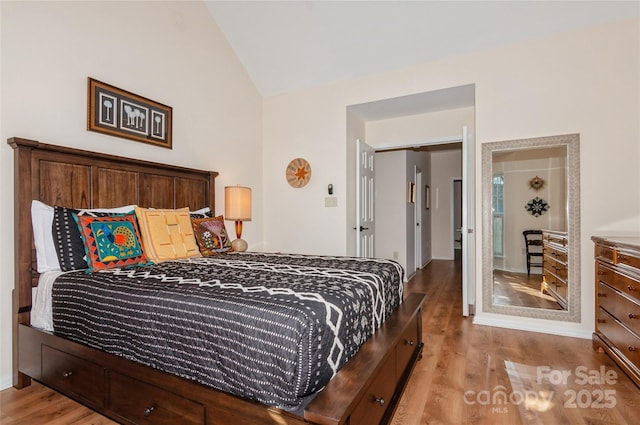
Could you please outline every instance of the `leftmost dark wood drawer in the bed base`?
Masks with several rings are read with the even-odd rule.
[[[42,380],[86,403],[104,406],[104,369],[47,345],[42,346]]]

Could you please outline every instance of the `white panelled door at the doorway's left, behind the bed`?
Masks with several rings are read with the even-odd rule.
[[[356,255],[373,257],[374,225],[374,168],[375,150],[361,140],[356,141],[358,164],[356,166]]]

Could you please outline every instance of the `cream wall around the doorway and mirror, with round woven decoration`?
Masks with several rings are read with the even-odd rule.
[[[627,20],[266,98],[267,249],[345,252],[345,214],[330,216],[326,209],[315,206],[321,199],[320,188],[313,186],[315,176],[308,191],[293,193],[284,187],[282,175],[287,160],[303,153],[311,159],[314,170],[322,173],[320,180],[329,172],[336,181],[346,177],[345,109],[349,105],[473,83],[478,283],[483,263],[480,145],[569,133],[580,133],[581,137],[582,320],[562,323],[496,315],[491,317],[493,323],[540,326],[547,332],[588,337],[594,319],[590,236],[630,230],[640,233],[640,196],[610,190],[611,182],[640,181],[639,24],[638,19]],[[343,211],[346,201],[339,199]],[[303,205],[304,214],[301,217],[299,208],[283,205]],[[292,222],[300,226],[304,238],[291,237],[296,232],[290,227]],[[335,232],[309,230],[317,228],[317,223]],[[281,237],[282,229],[288,237]],[[490,315],[481,310],[479,284],[476,295],[476,320],[486,320]]]

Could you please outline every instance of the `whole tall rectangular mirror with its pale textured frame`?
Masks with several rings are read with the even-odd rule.
[[[485,312],[580,320],[579,143],[568,134],[482,145]]]

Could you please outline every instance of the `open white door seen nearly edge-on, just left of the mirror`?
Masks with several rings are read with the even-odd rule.
[[[467,127],[462,128],[462,315],[475,305],[475,208],[474,143]],[[474,309],[475,311],[475,309]]]

